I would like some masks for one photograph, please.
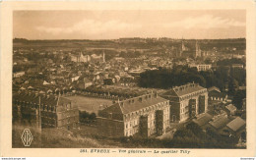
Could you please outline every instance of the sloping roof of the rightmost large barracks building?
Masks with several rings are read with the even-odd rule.
[[[197,83],[187,83],[185,85],[174,86],[170,90],[166,91],[162,95],[170,95],[170,96],[182,96],[189,93],[193,93],[199,90],[205,89]]]

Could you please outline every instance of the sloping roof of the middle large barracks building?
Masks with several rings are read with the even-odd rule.
[[[150,97],[146,98],[146,96],[149,96],[149,95],[151,95],[151,98]],[[128,113],[139,111],[140,109],[147,108],[149,106],[156,105],[160,102],[165,102],[165,101],[167,100],[164,98],[161,98],[160,96],[156,97],[153,94],[146,94],[139,97],[126,99],[123,101],[118,101],[102,111],[108,112],[108,113],[128,114]]]

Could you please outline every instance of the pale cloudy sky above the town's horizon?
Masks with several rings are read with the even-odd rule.
[[[245,10],[80,10],[13,13],[13,37],[27,39],[219,39],[245,36]]]

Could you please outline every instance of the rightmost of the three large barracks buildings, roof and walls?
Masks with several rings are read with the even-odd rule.
[[[208,110],[207,88],[198,83],[175,86],[160,95],[170,104],[170,122],[184,122]]]

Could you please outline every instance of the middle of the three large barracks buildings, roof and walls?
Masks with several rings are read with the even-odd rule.
[[[169,126],[169,101],[150,93],[117,101],[98,112],[98,133],[105,136],[161,135]]]

